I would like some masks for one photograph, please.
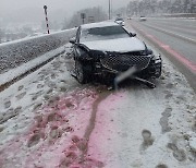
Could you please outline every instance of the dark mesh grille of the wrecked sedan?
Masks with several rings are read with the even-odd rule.
[[[110,55],[101,58],[100,62],[110,70],[126,71],[131,67],[135,67],[137,71],[148,67],[151,57],[148,56],[131,56],[131,55]]]

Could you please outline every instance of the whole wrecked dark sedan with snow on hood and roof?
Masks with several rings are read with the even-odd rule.
[[[149,80],[161,75],[161,57],[155,56],[136,34],[117,23],[82,25],[70,43],[73,44],[74,74],[79,83],[96,76],[107,82],[125,76],[155,87]]]

